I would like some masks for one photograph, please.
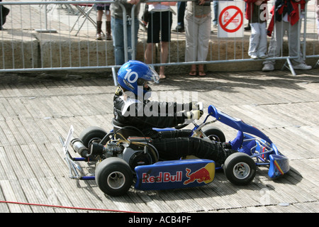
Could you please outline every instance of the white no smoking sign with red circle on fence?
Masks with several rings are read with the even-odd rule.
[[[231,5],[230,5],[231,4]],[[218,37],[240,38],[244,35],[243,29],[244,1],[219,1],[218,5]]]

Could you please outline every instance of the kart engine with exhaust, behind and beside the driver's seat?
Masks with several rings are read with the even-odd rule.
[[[106,145],[92,140],[89,148],[83,145],[82,140],[73,139],[72,148],[89,161],[101,161],[108,157],[120,157],[128,162],[131,170],[139,165],[151,165],[158,161],[156,148],[151,144],[150,139],[128,138],[127,140],[109,140]]]

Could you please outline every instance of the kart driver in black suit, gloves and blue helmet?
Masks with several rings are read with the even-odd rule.
[[[163,160],[178,160],[180,157],[196,157],[214,160],[223,164],[232,153],[240,150],[242,132],[229,143],[206,141],[189,137],[191,130],[182,129],[158,132],[152,128],[174,127],[185,121],[198,120],[203,111],[194,103],[150,101],[152,89],[159,75],[143,62],[130,60],[118,70],[118,88],[114,95],[114,119],[118,126],[138,128],[145,137],[152,138],[159,157]],[[246,148],[247,150],[247,148]]]

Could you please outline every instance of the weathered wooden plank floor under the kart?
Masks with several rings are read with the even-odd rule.
[[[198,92],[198,101],[205,106],[214,104],[262,129],[289,157],[288,175],[272,180],[267,167],[261,167],[252,184],[237,187],[217,172],[205,187],[130,189],[119,197],[103,194],[94,181],[69,179],[58,139],[67,135],[70,125],[76,135],[88,126],[111,129],[115,90],[111,78],[1,82],[0,212],[317,213],[319,69],[297,72],[297,76],[288,71],[214,73],[205,78],[168,75],[152,87],[156,94]],[[216,126],[227,140],[235,136],[232,128]]]

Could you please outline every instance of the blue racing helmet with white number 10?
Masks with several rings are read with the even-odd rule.
[[[118,84],[123,89],[133,92],[135,95],[142,96],[152,89],[145,84],[158,82],[159,75],[155,70],[143,62],[130,60],[118,70]],[[150,93],[149,93],[150,96]]]

